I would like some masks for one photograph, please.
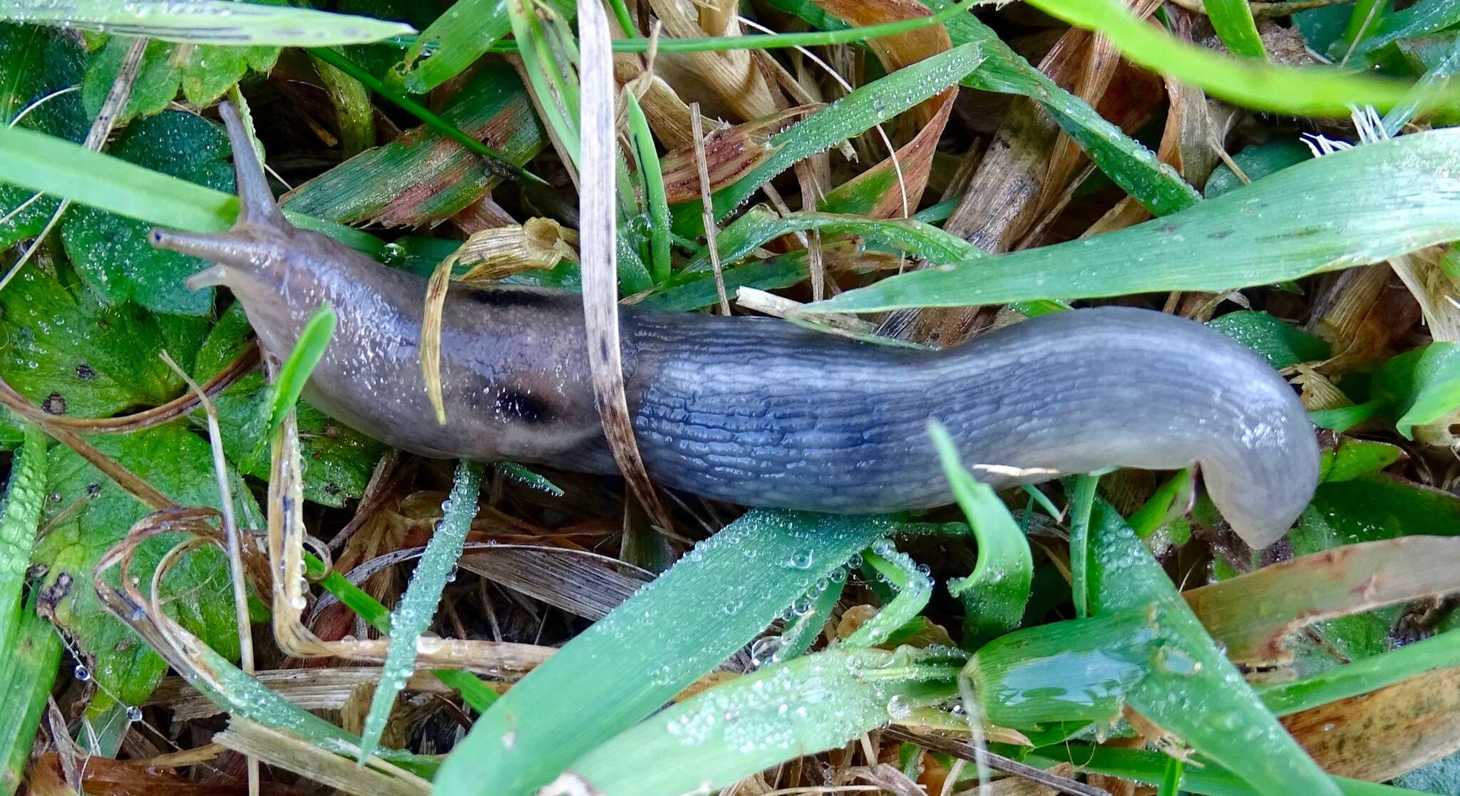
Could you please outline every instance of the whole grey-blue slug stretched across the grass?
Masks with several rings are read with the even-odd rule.
[[[423,456],[616,472],[575,294],[451,285],[438,425],[419,361],[426,280],[285,221],[231,105],[223,118],[238,223],[220,235],[159,229],[152,241],[213,260],[188,285],[228,286],[276,355],[320,305],[334,307],[311,403]],[[1283,535],[1318,479],[1313,426],[1288,384],[1240,343],[1161,313],[1056,313],[943,352],[774,318],[623,307],[620,324],[650,475],[708,498],[834,513],[949,504],[927,434],[934,419],[993,486],[1199,463],[1222,516],[1256,548]]]

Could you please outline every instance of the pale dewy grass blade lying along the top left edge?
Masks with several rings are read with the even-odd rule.
[[[0,1],[0,19],[191,44],[333,47],[415,34],[402,22],[222,0]]]

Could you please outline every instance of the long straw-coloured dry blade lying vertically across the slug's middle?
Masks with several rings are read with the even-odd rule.
[[[578,35],[583,64],[578,79],[583,85],[578,124],[583,152],[583,180],[578,185],[578,222],[583,247],[583,310],[588,343],[588,368],[593,371],[593,394],[597,397],[603,434],[609,440],[629,489],[644,504],[650,517],[663,529],[672,529],[654,485],[644,469],[634,440],[623,390],[623,352],[619,346],[619,279],[615,257],[615,142],[613,129],[613,53],[609,20],[599,3],[584,3],[578,9]]]

